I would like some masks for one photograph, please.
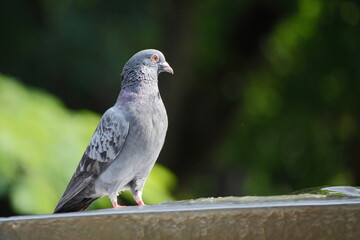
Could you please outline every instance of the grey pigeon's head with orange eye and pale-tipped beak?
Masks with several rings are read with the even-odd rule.
[[[155,49],[146,49],[136,53],[125,64],[124,71],[128,69],[143,69],[157,74],[161,72],[174,74],[173,69],[166,62],[164,54]]]

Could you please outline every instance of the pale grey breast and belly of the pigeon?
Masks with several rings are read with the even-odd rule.
[[[136,178],[148,175],[165,141],[168,120],[161,100],[132,101],[122,107],[129,133],[116,160],[99,176],[106,192],[121,191]],[[100,186],[101,185],[101,186]]]

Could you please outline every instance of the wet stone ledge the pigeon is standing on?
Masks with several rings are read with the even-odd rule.
[[[360,198],[228,197],[0,218],[0,239],[360,239]]]

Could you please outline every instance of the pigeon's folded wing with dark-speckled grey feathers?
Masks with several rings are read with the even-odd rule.
[[[120,154],[129,131],[129,122],[112,107],[100,120],[94,135],[56,209],[93,182]]]

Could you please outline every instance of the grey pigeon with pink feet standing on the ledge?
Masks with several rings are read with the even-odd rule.
[[[125,64],[117,101],[101,117],[54,213],[83,211],[106,195],[118,208],[117,196],[124,190],[144,205],[142,190],[168,126],[158,88],[161,72],[174,74],[155,49],[142,50]]]

